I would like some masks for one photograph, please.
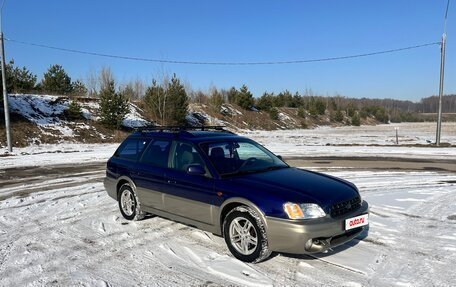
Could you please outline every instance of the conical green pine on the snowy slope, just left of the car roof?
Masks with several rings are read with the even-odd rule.
[[[128,100],[115,91],[114,81],[100,90],[100,120],[105,126],[119,129],[129,112]]]

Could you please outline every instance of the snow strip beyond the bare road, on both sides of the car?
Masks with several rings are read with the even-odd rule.
[[[378,157],[407,159],[456,159],[456,123],[444,123],[442,142],[453,147],[413,146],[433,136],[433,123],[397,125],[404,131],[399,145],[392,125],[327,128],[286,131],[244,131],[241,135],[257,140],[276,154],[288,157]],[[408,131],[405,135],[405,131]],[[402,132],[400,132],[401,134]],[[405,140],[405,138],[407,140]],[[407,143],[402,145],[401,143]],[[355,145],[353,145],[355,144]],[[31,145],[15,148],[12,156],[0,157],[0,169],[14,166],[38,166],[87,161],[106,161],[118,144]],[[6,149],[0,150],[0,156]],[[62,156],[62,154],[65,154]]]

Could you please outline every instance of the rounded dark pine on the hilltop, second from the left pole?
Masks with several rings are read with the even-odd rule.
[[[62,66],[52,65],[44,73],[41,86],[44,92],[57,95],[68,95],[73,90],[71,78]]]

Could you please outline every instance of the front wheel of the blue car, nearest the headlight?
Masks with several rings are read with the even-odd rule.
[[[258,263],[271,255],[264,223],[250,207],[238,206],[227,214],[223,237],[230,252],[241,261]]]

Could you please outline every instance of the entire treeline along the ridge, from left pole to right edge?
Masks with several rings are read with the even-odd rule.
[[[329,117],[332,121],[359,125],[360,119],[372,117],[382,123],[420,121],[417,113],[435,113],[438,97],[423,98],[420,102],[394,99],[346,98],[342,96],[319,96],[312,90],[302,93],[285,90],[280,93],[265,92],[254,97],[246,85],[230,89],[210,88],[208,91],[193,91],[184,87],[173,75],[162,76],[150,85],[141,80],[116,83],[109,68],[91,73],[85,81],[72,80],[60,65],[52,65],[38,82],[37,75],[26,67],[16,67],[14,61],[6,66],[7,90],[9,93],[43,93],[70,97],[100,98],[100,116],[104,124],[120,127],[128,113],[128,101],[141,105],[151,121],[158,124],[185,124],[189,103],[205,104],[215,111],[225,103],[237,105],[253,112],[269,113],[278,120],[280,108],[295,108],[297,115],[306,117]],[[1,87],[1,82],[0,82]],[[443,98],[443,112],[456,112],[456,95]],[[74,101],[68,111],[70,118],[80,117],[80,106]]]

